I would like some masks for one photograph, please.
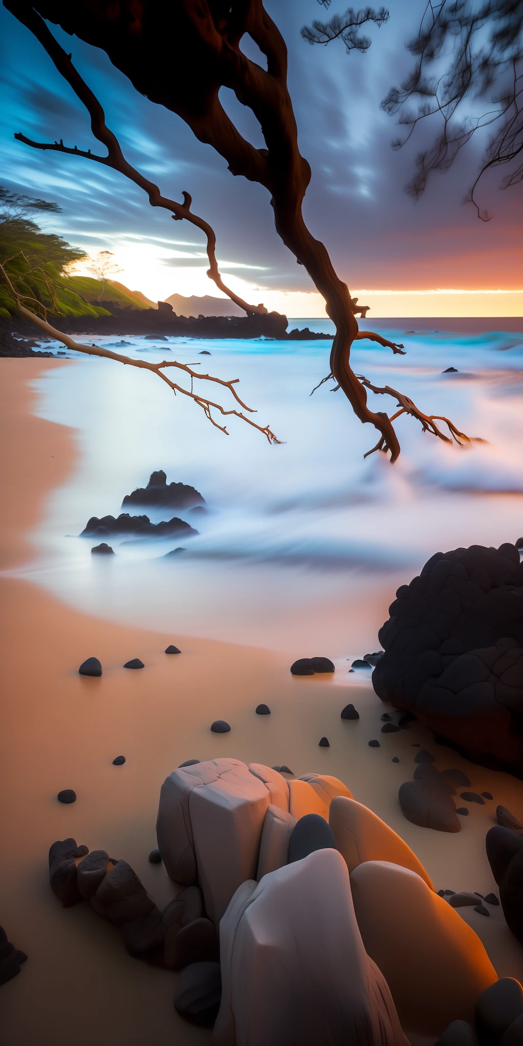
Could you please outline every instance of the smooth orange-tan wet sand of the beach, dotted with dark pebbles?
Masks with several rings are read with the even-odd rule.
[[[28,536],[45,498],[74,468],[74,431],[33,417],[36,395],[28,386],[51,367],[67,365],[0,361],[4,571],[28,562]],[[291,655],[279,652],[119,627],[5,573],[0,590],[0,923],[15,947],[28,954],[20,975],[0,988],[4,1046],[65,1046],[71,1039],[76,1046],[210,1041],[208,1030],[177,1017],[176,975],[130,958],[118,932],[87,905],[63,909],[47,872],[50,843],[73,836],[90,849],[104,847],[111,857],[126,858],[163,906],[172,887],[163,866],[147,863],[147,854],[156,845],[161,782],[187,758],[232,755],[246,763],[286,763],[297,775],[334,774],[399,832],[436,889],[497,893],[484,836],[500,802],[523,819],[523,782],[435,746],[418,724],[382,735],[380,717],[387,709],[370,687],[351,686],[348,692],[328,677],[294,678]],[[181,647],[180,657],[163,653],[170,642]],[[101,660],[101,679],[77,675],[91,655]],[[122,668],[133,657],[141,658],[143,670]],[[360,711],[357,723],[340,720],[348,701]],[[259,702],[269,705],[270,717],[255,715]],[[214,719],[227,720],[231,732],[210,733]],[[323,734],[329,749],[318,748]],[[379,749],[368,747],[372,737],[380,740]],[[473,791],[494,796],[484,806],[470,804],[458,835],[419,828],[400,811],[397,789],[412,777],[416,743],[434,753],[438,769],[460,767]],[[120,754],[127,763],[113,767]],[[66,788],[77,794],[72,805],[55,799]],[[498,974],[522,980],[523,948],[501,909],[492,908],[490,918],[460,911]]]

